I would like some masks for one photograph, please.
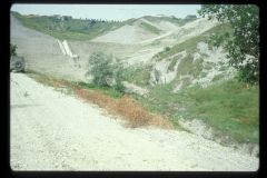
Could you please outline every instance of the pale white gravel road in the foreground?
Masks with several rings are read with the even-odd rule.
[[[258,169],[258,158],[185,131],[123,128],[23,73],[12,72],[10,83],[13,170]]]

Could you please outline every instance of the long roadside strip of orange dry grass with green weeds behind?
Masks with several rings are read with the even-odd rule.
[[[36,81],[53,87],[59,92],[67,95],[76,95],[88,102],[96,103],[101,108],[105,108],[113,118],[120,118],[125,120],[126,127],[159,127],[174,129],[172,125],[167,118],[160,115],[156,115],[147,108],[147,105],[141,105],[134,98],[121,95],[120,92],[93,83],[59,80],[52,76],[42,75],[36,71],[28,70],[26,72],[29,77]],[[61,88],[66,88],[67,91],[62,91]]]

